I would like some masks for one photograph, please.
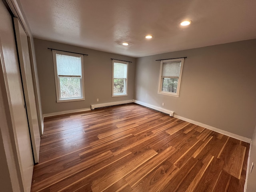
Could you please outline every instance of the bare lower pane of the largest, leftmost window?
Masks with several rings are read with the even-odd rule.
[[[60,77],[60,98],[82,97],[80,79]]]

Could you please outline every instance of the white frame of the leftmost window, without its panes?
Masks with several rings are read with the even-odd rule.
[[[57,69],[57,60],[56,60],[56,54],[62,54],[66,56],[74,56],[74,57],[80,57],[81,58],[81,77],[77,75],[58,75],[58,69]],[[53,55],[53,64],[54,64],[54,78],[55,78],[55,88],[56,88],[56,102],[72,102],[72,101],[82,101],[85,100],[84,98],[84,55],[82,54],[76,54],[76,53],[70,53],[65,51],[58,51],[58,50],[52,50]],[[73,97],[73,98],[60,98],[60,77],[74,77],[78,78],[80,77],[80,86],[81,86],[81,97]]]

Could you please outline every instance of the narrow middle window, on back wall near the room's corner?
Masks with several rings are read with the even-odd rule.
[[[112,97],[127,96],[128,62],[113,60]]]

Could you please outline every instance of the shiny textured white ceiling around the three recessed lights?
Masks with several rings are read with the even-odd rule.
[[[20,2],[36,38],[132,57],[256,38],[256,0]]]

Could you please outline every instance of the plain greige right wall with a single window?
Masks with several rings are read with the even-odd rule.
[[[255,54],[256,39],[137,58],[135,99],[252,138],[256,124]],[[156,60],[184,56],[180,97],[157,94],[160,61]]]

